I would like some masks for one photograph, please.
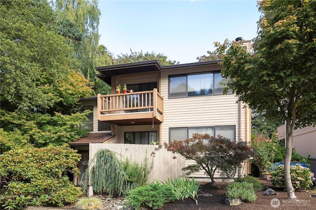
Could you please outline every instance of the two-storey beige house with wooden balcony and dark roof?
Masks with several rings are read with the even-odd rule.
[[[250,41],[244,44],[249,47]],[[208,133],[250,143],[251,110],[237,103],[235,94],[223,95],[219,62],[161,66],[154,60],[95,68],[99,71],[96,76],[112,90],[108,95],[81,100],[82,109],[93,110],[89,116],[90,134],[71,142],[71,146],[88,159],[92,140],[161,145],[191,138],[194,133]],[[116,86],[124,84],[127,93],[118,94]],[[249,166],[244,164],[236,176],[251,174]],[[194,176],[207,177],[203,171]]]

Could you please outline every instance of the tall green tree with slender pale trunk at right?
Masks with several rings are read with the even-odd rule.
[[[253,54],[231,42],[222,62],[238,101],[286,123],[284,163],[288,198],[296,198],[290,161],[293,130],[316,125],[316,1],[258,2],[261,17]]]

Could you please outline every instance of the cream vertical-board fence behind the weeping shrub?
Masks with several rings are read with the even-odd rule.
[[[158,179],[175,178],[182,175],[185,159],[179,154],[168,152],[164,147],[158,149],[157,145],[144,144],[114,144],[90,143],[89,159],[91,160],[99,149],[109,149],[117,153],[118,159],[128,158],[132,162],[143,163],[145,157],[153,160],[154,168],[149,175],[149,182]],[[152,153],[155,153],[151,155]]]

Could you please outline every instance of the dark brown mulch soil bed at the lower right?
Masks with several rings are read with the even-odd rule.
[[[217,210],[312,210],[316,209],[316,198],[311,197],[313,194],[312,191],[296,191],[295,195],[297,197],[296,200],[287,199],[286,191],[282,189],[278,189],[271,185],[270,180],[260,179],[265,187],[269,187],[274,189],[278,195],[272,196],[264,196],[264,190],[259,190],[256,192],[257,200],[253,203],[246,203],[242,202],[239,206],[228,206],[225,204],[226,199],[226,192],[227,192],[227,185],[229,183],[221,183],[218,182],[220,187],[212,187],[210,184],[204,184],[200,186],[200,193],[205,194],[209,193],[213,196],[211,197],[203,197],[198,196],[197,198],[197,205],[192,199],[185,199],[183,201],[176,201],[167,203],[162,208],[163,210],[210,210],[210,209],[217,209]],[[278,199],[279,206],[277,208],[272,207],[271,200]],[[274,201],[275,201],[274,200]],[[277,202],[274,203],[277,205]]]

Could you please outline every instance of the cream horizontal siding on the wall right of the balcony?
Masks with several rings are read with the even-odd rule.
[[[199,68],[195,72],[220,70],[218,65],[213,69]],[[198,126],[236,126],[236,141],[250,140],[251,121],[250,110],[243,108],[243,103],[236,103],[235,95],[215,95],[189,98],[168,99],[168,76],[172,74],[189,73],[190,69],[181,69],[161,72],[161,95],[164,97],[164,121],[161,125],[161,140],[169,142],[169,128],[172,127],[198,127]],[[239,121],[241,123],[239,123]],[[247,125],[245,122],[247,121]],[[186,161],[186,166],[193,164]],[[235,177],[246,173],[246,168],[237,169]],[[207,178],[204,171],[192,174],[199,178]],[[221,172],[216,172],[214,177],[227,177]]]

